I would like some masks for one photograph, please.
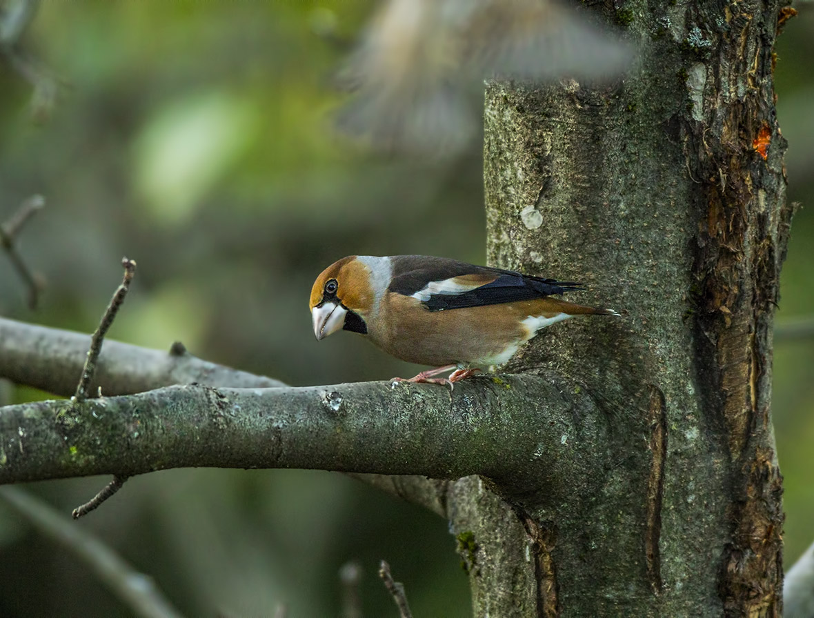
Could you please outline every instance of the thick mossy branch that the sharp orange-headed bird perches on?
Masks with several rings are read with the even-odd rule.
[[[601,482],[606,421],[583,391],[555,375],[475,378],[459,387],[190,385],[10,405],[0,410],[0,483],[173,467],[296,467],[435,479],[478,474],[509,496],[558,504]]]

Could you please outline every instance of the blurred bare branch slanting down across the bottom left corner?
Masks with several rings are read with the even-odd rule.
[[[71,550],[100,581],[112,590],[135,616],[181,618],[155,582],[136,571],[97,537],[72,525],[63,515],[29,493],[11,486],[0,488],[0,497],[48,537]]]

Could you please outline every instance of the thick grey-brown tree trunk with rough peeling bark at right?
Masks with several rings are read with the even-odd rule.
[[[575,300],[623,318],[548,329],[507,367],[569,377],[613,438],[592,495],[574,480],[558,504],[538,488],[508,506],[454,485],[475,616],[781,612],[772,316],[791,208],[772,46],[790,14],[642,11],[617,12],[642,41],[621,85],[488,85],[489,260],[581,281]]]

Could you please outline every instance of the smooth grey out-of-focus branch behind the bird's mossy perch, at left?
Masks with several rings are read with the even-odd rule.
[[[90,335],[0,318],[0,377],[70,397],[85,363]],[[173,346],[173,349],[176,346]],[[234,388],[285,386],[282,382],[202,361],[190,353],[166,353],[105,340],[90,392],[129,395],[171,384]]]

